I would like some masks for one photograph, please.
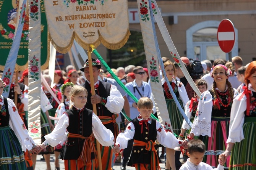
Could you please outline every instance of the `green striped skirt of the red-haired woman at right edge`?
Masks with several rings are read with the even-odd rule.
[[[230,170],[256,170],[256,117],[245,117],[245,139],[235,143],[230,158]]]

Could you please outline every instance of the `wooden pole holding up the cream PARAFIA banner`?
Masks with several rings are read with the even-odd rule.
[[[92,70],[91,52],[92,52],[92,48],[90,47],[88,50],[88,64],[89,64],[89,72],[90,72],[91,93],[93,96],[93,95],[95,95],[95,91],[94,91],[94,77],[93,77],[93,70]],[[93,112],[97,115],[96,104],[92,104],[92,108],[93,108]],[[97,149],[97,155],[98,155],[99,170],[102,170],[100,144],[99,144],[99,141],[97,141],[97,140],[96,140],[96,149]]]

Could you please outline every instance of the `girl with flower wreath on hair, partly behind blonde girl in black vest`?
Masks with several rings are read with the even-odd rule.
[[[62,95],[64,96],[64,101],[62,103],[59,104],[58,109],[55,112],[55,117],[57,118],[57,120],[54,120],[54,125],[56,126],[58,123],[58,120],[60,120],[60,117],[62,116],[62,114],[69,110],[69,103],[70,103],[70,96],[69,93],[71,91],[71,88],[74,86],[73,83],[68,82],[66,84],[64,84],[61,87],[61,91],[62,91]],[[61,141],[57,146],[55,146],[54,148],[54,154],[55,154],[55,169],[60,170],[60,164],[59,164],[59,160],[58,157],[60,155],[60,152],[62,152],[62,146],[63,146],[63,141]]]

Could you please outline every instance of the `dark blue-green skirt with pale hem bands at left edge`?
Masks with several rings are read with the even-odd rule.
[[[26,170],[19,140],[9,126],[0,127],[0,170]]]

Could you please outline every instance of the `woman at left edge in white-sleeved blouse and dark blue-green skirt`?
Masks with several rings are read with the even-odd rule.
[[[23,150],[38,153],[13,101],[2,96],[6,84],[0,78],[0,169],[26,170]]]

